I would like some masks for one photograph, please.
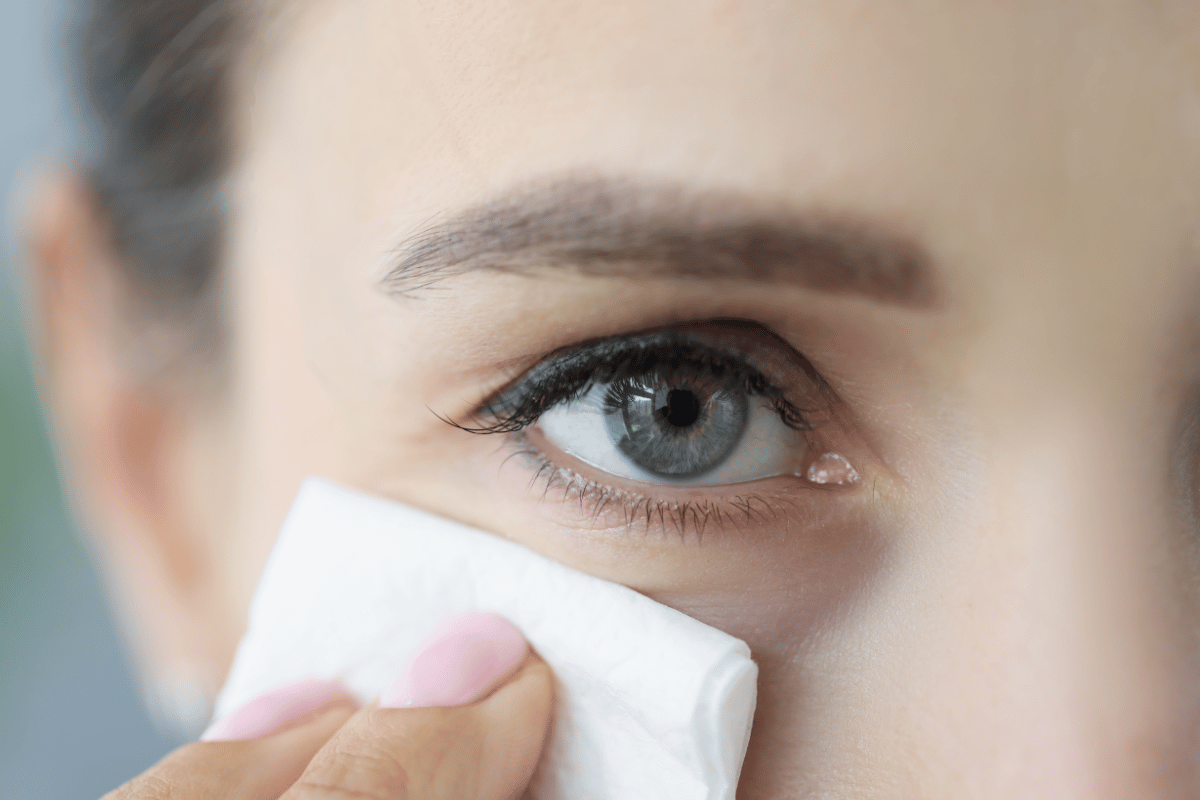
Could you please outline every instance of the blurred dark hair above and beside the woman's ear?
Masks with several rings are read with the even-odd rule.
[[[100,133],[90,179],[114,247],[146,305],[175,321],[210,315],[198,307],[221,260],[245,0],[83,1],[82,78]]]

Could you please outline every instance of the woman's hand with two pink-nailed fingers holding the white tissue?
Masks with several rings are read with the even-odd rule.
[[[443,628],[377,704],[360,709],[328,681],[284,687],[106,800],[515,800],[552,700],[550,668],[520,632],[472,614]]]

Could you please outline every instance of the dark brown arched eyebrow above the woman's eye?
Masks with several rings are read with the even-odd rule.
[[[880,224],[626,180],[523,187],[434,219],[400,243],[383,288],[415,296],[478,270],[786,283],[908,308],[937,297],[922,248]]]

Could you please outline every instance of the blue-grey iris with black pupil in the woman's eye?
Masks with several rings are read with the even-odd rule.
[[[678,480],[720,465],[742,440],[750,416],[744,391],[706,387],[702,380],[613,385],[605,407],[617,447],[638,468]]]

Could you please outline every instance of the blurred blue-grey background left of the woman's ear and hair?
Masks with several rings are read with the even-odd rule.
[[[98,798],[174,742],[148,721],[64,509],[22,333],[12,218],[30,167],[85,151],[67,0],[0,0],[0,799]]]

